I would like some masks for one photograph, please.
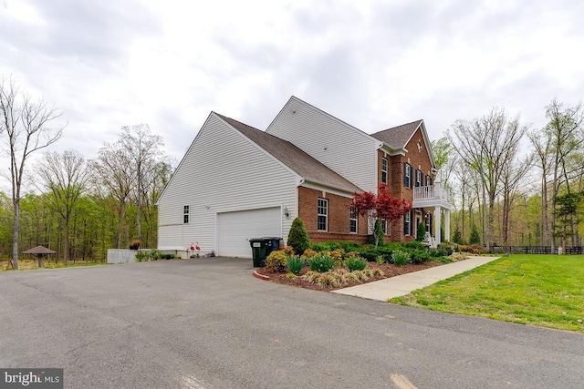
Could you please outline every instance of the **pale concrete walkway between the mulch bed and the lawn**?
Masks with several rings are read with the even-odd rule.
[[[435,268],[415,271],[408,274],[391,277],[381,281],[364,283],[349,288],[332,291],[333,293],[347,294],[362,297],[363,299],[386,302],[393,297],[409,294],[416,289],[422,289],[433,283],[446,280],[456,274],[469,271],[499,257],[469,257],[467,260],[448,263]]]

